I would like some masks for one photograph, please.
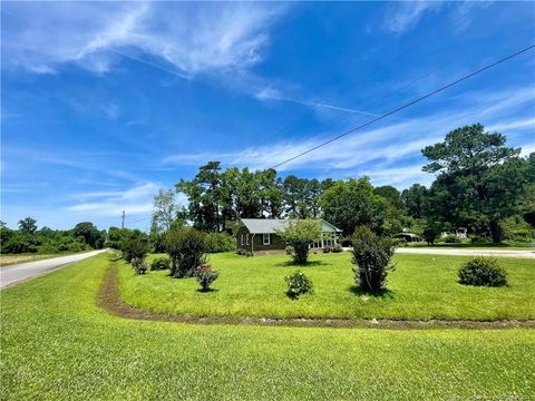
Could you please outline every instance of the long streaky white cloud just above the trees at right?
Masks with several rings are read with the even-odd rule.
[[[532,119],[519,118],[508,121],[518,108],[533,105],[535,97],[531,89],[506,90],[488,94],[477,92],[470,97],[451,98],[453,109],[442,109],[439,114],[391,124],[382,124],[377,128],[359,130],[327,146],[299,157],[283,166],[288,169],[353,169],[362,174],[369,172],[369,164],[390,168],[395,163],[420,155],[425,146],[440,141],[444,136],[459,126],[481,121],[488,127],[499,127],[507,135],[508,129],[529,130]],[[349,127],[348,127],[349,128]],[[309,139],[281,140],[264,146],[252,146],[236,151],[202,154],[178,154],[164,158],[165,164],[198,165],[206,160],[221,160],[226,165],[250,166],[251,168],[269,168],[311,149],[340,133],[321,133]],[[378,170],[376,170],[376,174]]]

